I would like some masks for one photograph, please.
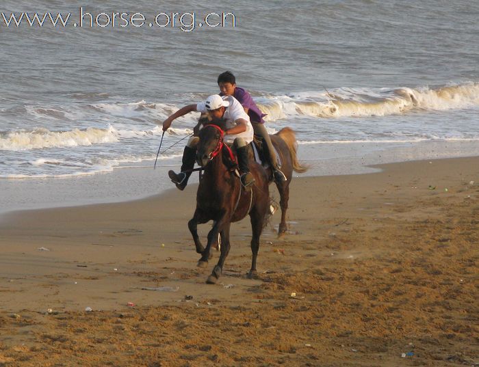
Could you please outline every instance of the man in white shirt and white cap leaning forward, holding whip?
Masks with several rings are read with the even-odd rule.
[[[209,112],[213,121],[226,120],[223,140],[225,143],[233,143],[235,146],[242,185],[245,189],[250,189],[250,186],[255,182],[255,178],[253,178],[248,169],[248,144],[253,141],[254,132],[250,117],[244,111],[241,103],[233,96],[224,96],[222,98],[218,94],[213,94],[203,103],[187,105],[170,115],[163,122],[163,131],[168,130],[174,119],[193,111]],[[179,174],[171,170],[168,172],[168,176],[180,190],[185,189],[188,178],[192,174],[191,170],[194,167],[198,141],[198,137],[192,137],[185,146],[181,172]]]

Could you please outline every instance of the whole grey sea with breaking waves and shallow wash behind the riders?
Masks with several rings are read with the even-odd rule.
[[[146,24],[74,27],[80,7],[92,17],[141,12]],[[59,179],[75,178],[81,187],[87,176],[100,182],[119,168],[153,167],[161,122],[217,93],[224,70],[268,113],[271,133],[294,128],[313,174],[350,173],[352,159],[371,154],[398,161],[478,152],[476,2],[4,0],[0,12],[7,20],[12,12],[71,13],[66,27],[30,27],[25,19],[7,27],[0,14],[4,208],[65,203],[61,195],[39,200],[32,189],[38,180],[51,191],[65,186]],[[160,12],[196,12],[195,27],[178,19],[175,27],[149,27]],[[235,27],[200,27],[210,12],[234,14]],[[163,147],[190,134],[197,117],[173,122]],[[178,165],[182,150],[182,143],[173,146],[158,165]],[[165,169],[157,172],[162,176],[145,180],[161,185],[133,194],[119,182],[115,197],[168,187]],[[109,190],[99,192],[96,201],[112,199]],[[73,196],[88,202],[91,195]]]

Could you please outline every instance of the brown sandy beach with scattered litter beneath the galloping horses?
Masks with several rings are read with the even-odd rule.
[[[478,365],[479,158],[381,167],[295,178],[260,279],[246,219],[214,286],[194,186],[3,217],[0,366]]]

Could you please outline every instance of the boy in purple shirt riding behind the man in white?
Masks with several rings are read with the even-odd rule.
[[[220,87],[221,91],[220,96],[233,96],[242,104],[244,111],[250,117],[255,134],[261,136],[268,147],[268,157],[273,168],[274,180],[276,182],[286,181],[286,176],[281,172],[278,161],[276,161],[276,153],[274,152],[270,135],[264,126],[263,116],[266,115],[261,113],[255,101],[246,90],[236,86],[236,78],[231,71],[222,72],[218,76],[218,87]]]

